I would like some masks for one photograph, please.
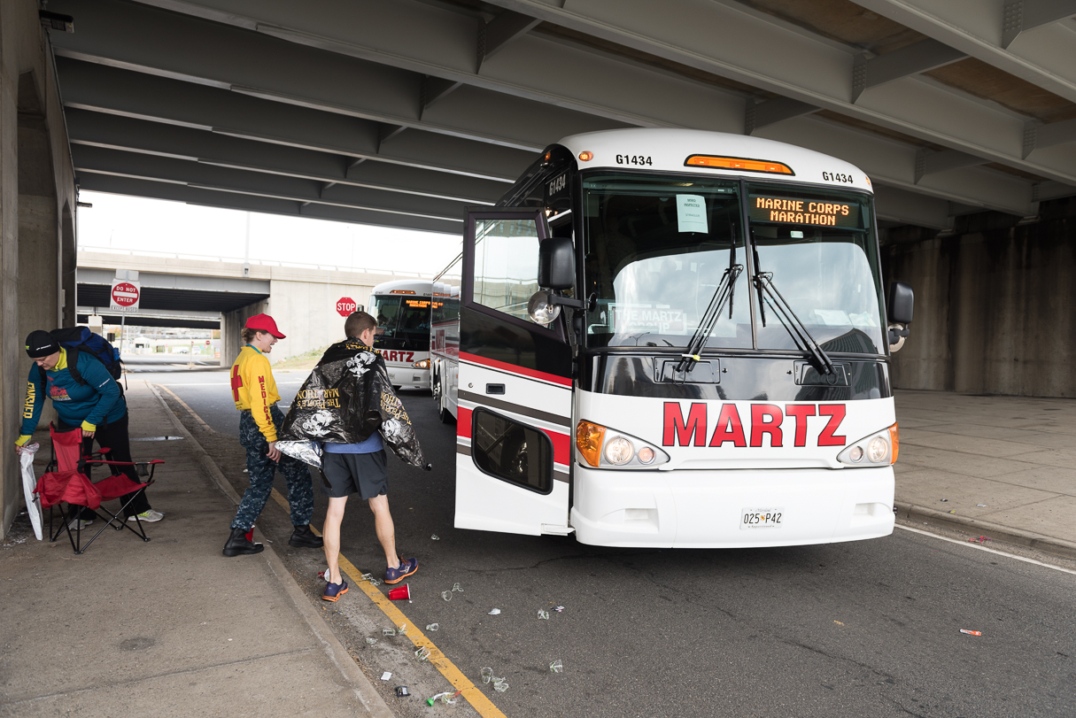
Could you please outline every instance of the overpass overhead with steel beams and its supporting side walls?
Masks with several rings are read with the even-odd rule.
[[[896,385],[1076,394],[1076,0],[49,0],[72,20],[48,30],[38,10],[0,2],[5,436],[25,333],[93,306],[76,186],[458,235],[548,144],[621,127],[854,164],[917,291]]]

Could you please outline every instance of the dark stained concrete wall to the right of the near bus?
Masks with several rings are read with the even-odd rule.
[[[891,235],[887,280],[916,292],[894,386],[1076,397],[1076,199],[1044,202],[1039,216],[974,215],[944,239]]]

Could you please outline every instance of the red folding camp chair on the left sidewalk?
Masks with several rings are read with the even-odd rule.
[[[147,462],[108,461],[101,459],[101,456],[109,453],[109,450],[104,447],[99,452],[83,455],[82,430],[75,428],[68,432],[57,432],[56,427],[49,424],[48,434],[52,437],[53,457],[48,462],[45,473],[38,479],[34,493],[41,497],[41,508],[48,509],[49,540],[55,541],[59,537],[60,532],[66,531],[74,552],[84,553],[89,548],[89,545],[109,526],[112,526],[116,531],[123,531],[124,527],[127,527],[143,541],[150,540],[150,537],[145,535],[145,529],[142,526],[142,520],[138,518],[138,515],[134,516],[134,526],[131,526],[131,522],[126,521],[124,518],[124,509],[153,483],[153,475],[157,465],[165,462],[160,460]],[[95,483],[90,480],[89,476],[90,469],[98,464],[109,466],[110,469],[113,466],[132,466],[137,476],[144,478],[145,481],[138,483],[125,474],[119,474],[101,479]],[[112,512],[101,505],[101,502],[116,498],[122,499],[123,496],[128,494],[130,494],[130,497],[127,501],[121,501],[121,506],[116,512]],[[65,510],[65,504],[68,509],[70,509],[72,504],[85,506],[104,522],[104,525],[85,545],[82,543],[82,523],[74,521],[74,519],[80,517],[74,511],[71,511],[69,516],[69,511]],[[53,532],[53,507],[59,510],[60,519],[62,519],[62,525],[55,533]],[[81,513],[81,509],[79,513]],[[73,534],[71,532],[71,523],[74,523]]]

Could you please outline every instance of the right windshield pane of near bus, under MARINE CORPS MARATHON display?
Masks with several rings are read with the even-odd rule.
[[[825,351],[881,354],[880,282],[870,201],[837,191],[748,184],[755,271]],[[761,294],[760,349],[802,349]]]

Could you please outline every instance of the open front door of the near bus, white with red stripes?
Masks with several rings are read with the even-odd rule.
[[[458,529],[567,534],[571,349],[561,324],[535,324],[534,208],[476,208],[464,234],[456,424]]]

